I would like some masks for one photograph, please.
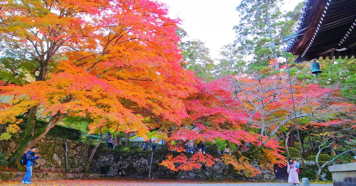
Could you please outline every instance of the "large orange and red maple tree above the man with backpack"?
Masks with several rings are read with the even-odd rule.
[[[10,1],[2,11],[14,12],[6,14],[7,19],[2,15],[11,20],[1,30],[1,37],[9,40],[4,47],[38,63],[37,81],[1,87],[2,95],[16,95],[15,104],[0,113],[2,124],[14,123],[29,110],[29,120],[30,113],[48,120],[47,126],[25,138],[13,162],[68,116],[90,118],[90,132],[108,126],[140,136],[151,127],[140,113],[148,111],[175,123],[188,116],[180,98],[195,91],[195,80],[180,66],[175,33],[179,20],[168,18],[161,4]],[[20,28],[20,23],[26,26]],[[56,64],[51,71],[49,63]]]

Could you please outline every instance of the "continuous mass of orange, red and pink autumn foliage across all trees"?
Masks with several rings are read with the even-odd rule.
[[[278,72],[197,79],[180,65],[175,33],[180,20],[169,18],[166,7],[155,1],[1,5],[1,48],[26,61],[22,83],[0,80],[1,96],[11,97],[0,103],[0,124],[7,126],[1,139],[19,130],[20,115],[48,121],[25,139],[26,147],[70,117],[86,119],[89,133],[134,132],[146,139],[154,134],[167,142],[166,149],[178,152],[188,142],[224,140],[234,151],[223,161],[249,176],[258,170],[248,157],[262,156],[266,164],[285,162],[276,134],[295,124],[285,65]],[[333,118],[338,113],[353,115],[354,106],[337,87],[292,81],[298,119],[308,117],[314,121],[309,125],[323,126],[346,121]],[[181,154],[168,155],[161,165],[191,170],[214,161],[208,154]]]

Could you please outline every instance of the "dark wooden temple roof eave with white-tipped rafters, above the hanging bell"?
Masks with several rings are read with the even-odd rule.
[[[356,0],[304,1],[296,33],[284,38],[295,63],[355,56]]]

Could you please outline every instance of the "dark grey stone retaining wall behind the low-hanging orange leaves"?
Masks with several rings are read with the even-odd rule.
[[[273,167],[263,167],[258,165],[257,160],[251,161],[251,165],[261,171],[253,177],[238,175],[229,172],[229,166],[225,165],[220,158],[217,158],[216,164],[202,166],[201,169],[191,171],[174,172],[162,165],[158,165],[166,158],[166,153],[155,152],[152,159],[151,177],[153,178],[172,178],[172,179],[218,179],[230,177],[238,180],[274,180]],[[93,162],[90,165],[90,171],[95,174],[104,174],[105,177],[135,177],[146,178],[150,171],[151,152],[122,154],[111,150],[99,150],[96,152]]]

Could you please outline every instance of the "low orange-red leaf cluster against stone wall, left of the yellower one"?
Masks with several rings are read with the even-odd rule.
[[[191,157],[185,156],[184,154],[180,154],[176,157],[173,157],[173,155],[167,155],[167,159],[162,161],[159,165],[166,166],[168,169],[173,170],[173,171],[179,171],[179,170],[192,170],[192,169],[200,169],[201,164],[205,164],[206,166],[212,166],[214,165],[214,161],[217,161],[217,159],[213,158],[213,156],[210,156],[209,154],[201,154],[197,153],[194,154]]]

